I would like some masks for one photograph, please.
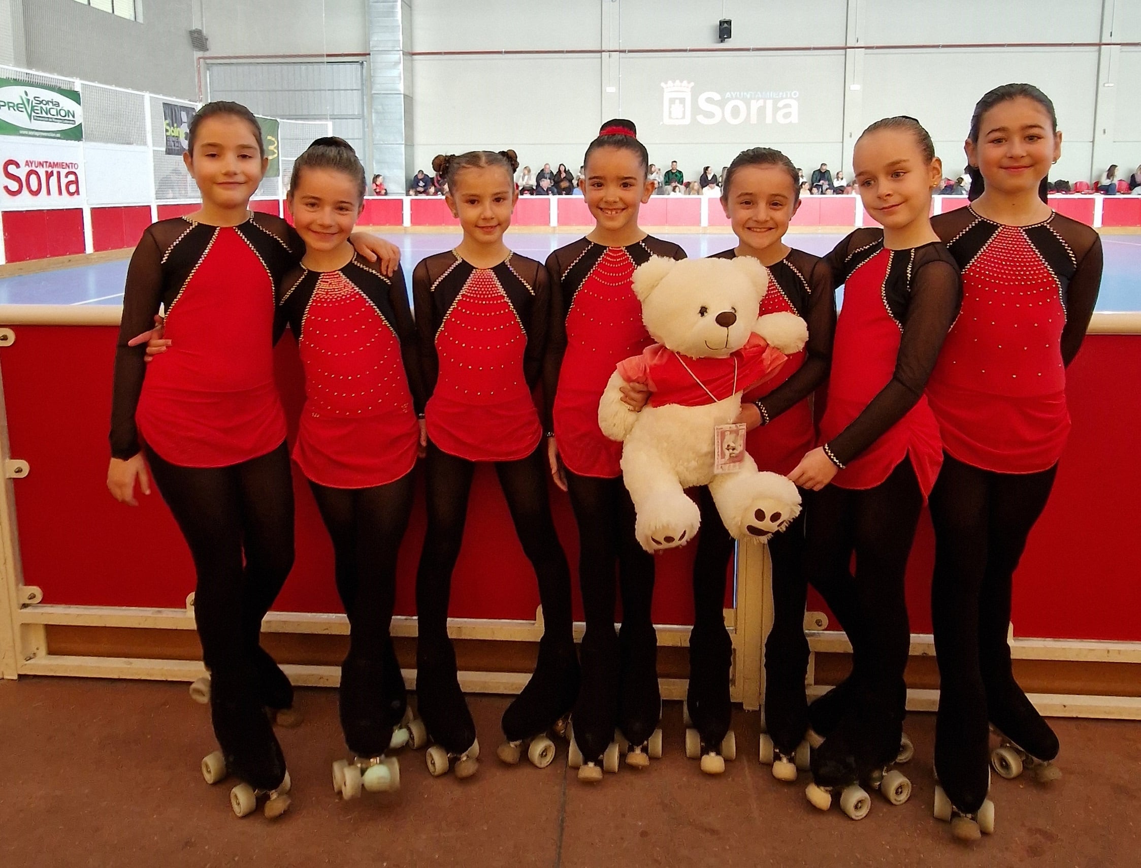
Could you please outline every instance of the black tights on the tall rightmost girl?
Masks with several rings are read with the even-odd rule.
[[[996,473],[946,455],[931,493],[934,763],[952,802],[969,813],[987,793],[988,723],[1038,759],[1058,754],[1058,739],[1014,681],[1006,642],[1011,579],[1055,472]]]

